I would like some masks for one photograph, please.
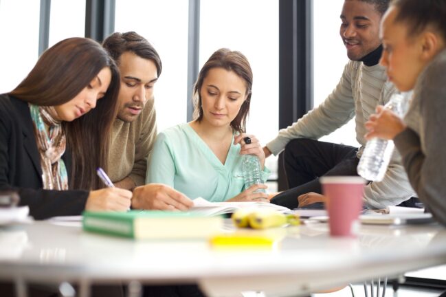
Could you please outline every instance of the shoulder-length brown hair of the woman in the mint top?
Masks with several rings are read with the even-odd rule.
[[[235,131],[240,133],[245,132],[246,118],[249,114],[249,104],[251,102],[252,95],[252,69],[249,65],[247,58],[237,51],[231,51],[226,48],[217,50],[210,56],[208,61],[203,65],[197,78],[197,82],[194,85],[194,118],[200,122],[203,119],[203,109],[201,108],[201,86],[203,80],[208,76],[208,72],[213,68],[223,68],[227,71],[235,72],[240,78],[245,80],[247,98],[243,102],[240,111],[236,115],[236,118],[232,120],[231,127]]]

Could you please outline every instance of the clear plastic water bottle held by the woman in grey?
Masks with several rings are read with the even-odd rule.
[[[408,109],[406,96],[401,93],[392,95],[384,108],[390,109],[402,118]],[[358,174],[369,181],[381,181],[386,175],[394,147],[393,140],[383,140],[378,137],[369,140],[359,159]]]

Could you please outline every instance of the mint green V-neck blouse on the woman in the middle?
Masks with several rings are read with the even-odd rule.
[[[189,124],[172,126],[157,135],[148,159],[146,184],[166,184],[190,199],[226,201],[245,190],[240,150],[232,136],[222,164]],[[264,180],[269,173],[264,167]]]

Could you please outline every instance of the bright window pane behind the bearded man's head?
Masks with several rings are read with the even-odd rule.
[[[186,122],[188,1],[117,0],[115,31],[135,31],[157,50],[163,70],[155,85],[158,130]]]

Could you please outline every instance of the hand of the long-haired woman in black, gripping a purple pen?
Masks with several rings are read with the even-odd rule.
[[[132,192],[122,188],[93,190],[87,198],[85,210],[129,210]]]

